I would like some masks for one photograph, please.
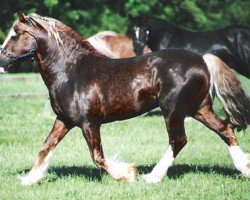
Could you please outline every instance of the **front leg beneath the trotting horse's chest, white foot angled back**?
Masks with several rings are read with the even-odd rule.
[[[133,164],[105,159],[100,137],[100,125],[83,123],[83,135],[87,141],[93,162],[105,169],[114,179],[133,182],[136,180],[136,168]]]

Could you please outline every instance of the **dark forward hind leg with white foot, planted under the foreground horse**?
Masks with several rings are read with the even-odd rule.
[[[200,88],[196,87],[196,82],[199,83]],[[186,145],[187,137],[185,134],[184,119],[202,101],[202,96],[206,92],[206,85],[206,77],[202,76],[193,76],[189,80],[186,80],[185,85],[171,88],[172,90],[165,89],[168,86],[163,84],[158,99],[167,126],[170,145],[152,172],[143,176],[146,182],[160,182],[167,174],[169,167],[178,153]]]

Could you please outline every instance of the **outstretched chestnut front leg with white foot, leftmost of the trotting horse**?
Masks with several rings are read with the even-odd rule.
[[[49,167],[49,160],[52,157],[54,148],[70,129],[71,127],[66,126],[63,121],[56,119],[31,171],[27,176],[20,177],[22,185],[31,185],[43,178]]]

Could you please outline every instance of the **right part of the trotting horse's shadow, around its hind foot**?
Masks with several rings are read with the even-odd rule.
[[[139,174],[147,174],[152,171],[155,165],[150,166],[138,166],[138,172]],[[219,174],[223,176],[230,176],[232,178],[239,179],[240,172],[236,169],[231,169],[228,167],[222,167],[219,165],[214,166],[202,166],[202,165],[185,165],[185,164],[179,164],[174,165],[169,168],[167,176],[170,179],[178,179],[182,177],[185,174],[188,173],[205,173],[205,174]]]

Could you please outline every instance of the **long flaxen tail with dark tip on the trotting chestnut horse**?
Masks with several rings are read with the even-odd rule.
[[[210,73],[210,95],[223,104],[230,122],[239,130],[250,124],[250,98],[242,89],[239,79],[217,56],[203,56]]]

